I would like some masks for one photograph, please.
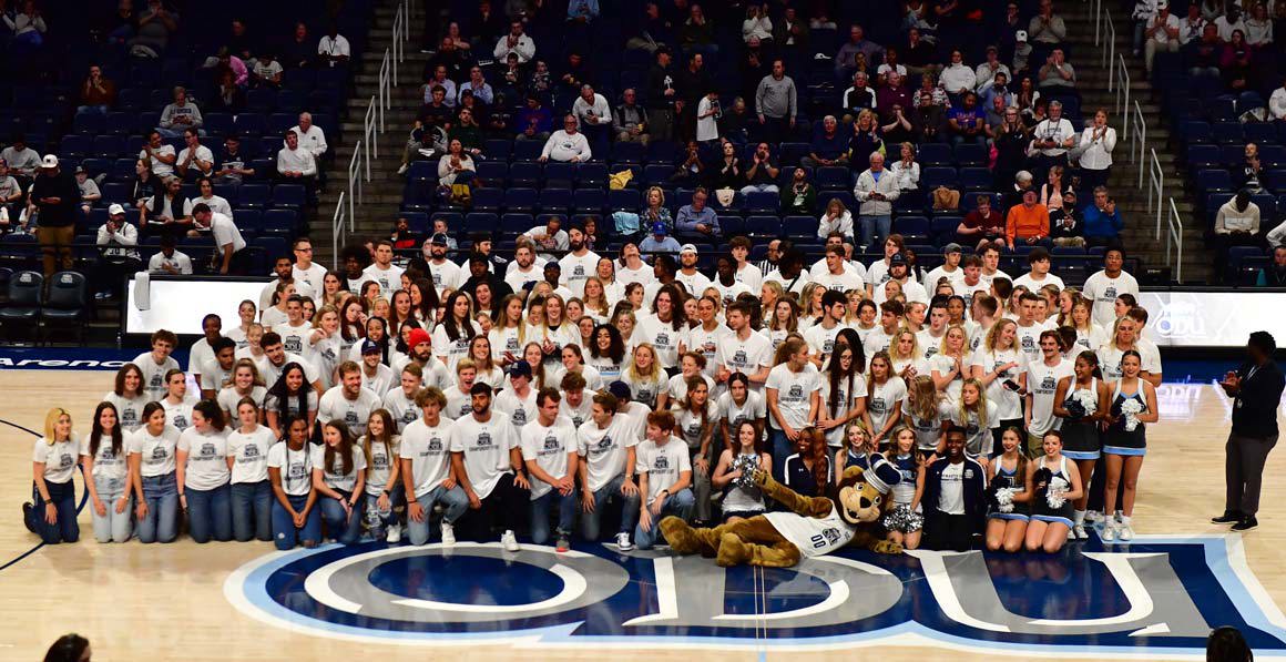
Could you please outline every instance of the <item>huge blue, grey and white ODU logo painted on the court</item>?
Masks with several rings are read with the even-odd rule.
[[[1201,656],[1232,625],[1286,658],[1286,617],[1236,536],[1138,536],[1060,555],[845,549],[793,568],[719,568],[584,545],[331,545],[233,572],[225,596],[262,622],[372,643],[750,649],[923,647],[1025,658]]]

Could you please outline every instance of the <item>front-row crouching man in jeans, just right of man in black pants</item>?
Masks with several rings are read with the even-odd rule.
[[[526,364],[518,364],[526,365]],[[562,396],[557,388],[541,388],[536,395],[536,416],[522,427],[522,459],[531,476],[531,541],[549,540],[549,508],[557,503],[556,549],[571,549],[571,528],[576,522],[576,428],[558,415]]]

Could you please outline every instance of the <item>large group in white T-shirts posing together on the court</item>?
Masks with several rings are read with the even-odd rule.
[[[341,285],[350,293],[336,293],[337,278],[296,270],[275,294],[306,283],[323,303],[311,320],[297,294],[287,294],[276,325],[253,321],[249,301],[226,335],[206,319],[189,362],[199,400],[168,356],[176,338],[158,332],[95,414],[98,431],[112,413],[130,458],[118,463],[123,479],[109,460],[87,472],[95,486],[105,477],[102,494],[130,504],[108,508],[96,537],[127,539],[125,519],[143,541],[174,540],[181,506],[198,541],[260,537],[289,549],[323,540],[324,521],[341,542],[363,533],[395,541],[405,528],[423,544],[439,505],[440,540],[453,541],[453,523],[478,510],[467,519],[475,535],[494,524],[514,549],[522,530],[550,539],[557,505],[559,549],[577,518],[581,537],[599,539],[604,512],[619,522],[621,549],[647,548],[664,514],[712,523],[716,501],[724,515],[772,508],[739,481],[754,464],[824,494],[817,458],[838,476],[854,437],[873,451],[908,427],[927,456],[959,427],[967,452],[985,463],[1012,424],[1039,447],[1060,424],[1051,379],[1073,375],[1083,350],[1097,352],[1106,380],[1123,378],[1129,352],[1142,356],[1134,375],[1160,379],[1119,249],[1082,296],[1061,287],[1039,252],[1031,273],[1011,282],[988,260],[994,248],[962,258],[948,247],[946,264],[917,283],[892,237],[869,266],[828,249],[814,271],[846,278],[827,280],[782,269],[765,276],[746,261],[748,242],[734,239],[711,280],[693,269],[696,256],[648,269],[633,244],[620,260],[601,258],[576,228],[568,234],[561,278],[538,270],[534,244],[520,242],[505,275],[531,280],[521,276],[520,294],[484,310],[454,289],[460,267],[441,267],[445,251],[426,249],[430,274],[415,274],[396,270],[377,244],[376,270],[361,278],[397,302],[383,309],[352,296],[365,280],[350,278]],[[736,294],[729,278],[742,279]],[[709,285],[689,292],[685,280]],[[1042,350],[1047,330],[1058,337],[1057,357]],[[105,458],[103,447],[91,461]],[[62,482],[49,470],[46,482]],[[37,505],[57,503],[40,496]],[[95,533],[99,517],[95,508]]]

